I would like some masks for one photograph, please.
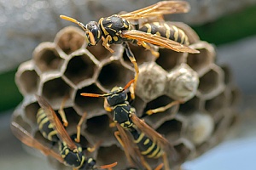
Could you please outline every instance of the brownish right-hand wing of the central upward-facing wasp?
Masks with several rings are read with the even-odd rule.
[[[152,139],[156,144],[159,144],[160,147],[166,151],[167,155],[172,156],[172,159],[176,160],[177,152],[166,138],[156,132],[152,127],[148,126],[146,122],[138,118],[135,114],[132,114],[131,121],[138,129],[145,133],[149,139]]]

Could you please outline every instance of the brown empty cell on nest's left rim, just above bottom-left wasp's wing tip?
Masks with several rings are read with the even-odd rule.
[[[20,88],[24,90],[24,93],[35,94],[37,92],[39,77],[36,71],[23,71],[18,78]]]

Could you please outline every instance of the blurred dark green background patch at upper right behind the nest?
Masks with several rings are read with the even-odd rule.
[[[194,26],[193,29],[202,40],[220,45],[256,35],[255,16],[256,6],[252,6],[204,26]]]

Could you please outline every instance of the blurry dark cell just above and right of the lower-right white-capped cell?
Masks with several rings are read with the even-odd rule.
[[[208,99],[205,104],[205,109],[206,111],[209,111],[212,116],[214,116],[214,114],[216,114],[218,111],[227,107],[228,102],[229,99],[227,99],[227,96],[223,92],[212,99]]]

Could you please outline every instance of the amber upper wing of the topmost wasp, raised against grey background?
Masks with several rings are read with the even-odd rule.
[[[189,9],[189,3],[185,1],[162,1],[130,13],[120,14],[120,17],[126,20],[139,20],[163,14],[187,13]]]

